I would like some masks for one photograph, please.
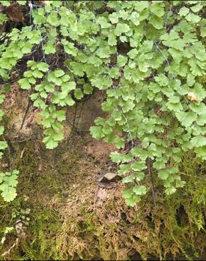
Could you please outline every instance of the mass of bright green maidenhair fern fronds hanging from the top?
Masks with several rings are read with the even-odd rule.
[[[123,181],[133,183],[123,194],[128,205],[147,192],[150,168],[171,195],[185,184],[176,167],[183,152],[206,157],[204,7],[204,1],[30,2],[32,24],[13,29],[0,46],[0,76],[8,78],[28,57],[18,83],[41,110],[48,149],[63,140],[63,107],[95,87],[105,90],[109,118],[97,120],[91,133],[117,149],[131,142],[128,154],[111,154]]]

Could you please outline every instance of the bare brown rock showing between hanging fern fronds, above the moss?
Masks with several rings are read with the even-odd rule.
[[[63,122],[65,138],[71,136],[71,130],[88,132],[97,116],[107,116],[101,109],[103,100],[104,92],[97,90],[73,107],[63,108],[67,117]],[[29,101],[29,93],[20,91],[18,83],[13,83],[4,104],[8,139],[13,140],[16,135],[20,140],[30,139],[35,133],[42,133],[40,109],[34,108]]]

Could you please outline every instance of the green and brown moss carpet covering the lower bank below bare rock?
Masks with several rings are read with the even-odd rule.
[[[157,183],[157,208],[152,195],[147,195],[133,209],[121,197],[121,181],[109,190],[97,186],[98,164],[103,164],[85,152],[83,142],[76,141],[78,146],[71,152],[65,144],[52,152],[34,142],[16,146],[20,187],[18,198],[0,208],[1,235],[6,226],[15,227],[25,215],[27,236],[6,258],[204,260],[205,165],[192,152],[180,166],[184,188],[163,198]],[[27,209],[30,213],[22,214]],[[1,254],[17,236],[15,230],[6,236]]]

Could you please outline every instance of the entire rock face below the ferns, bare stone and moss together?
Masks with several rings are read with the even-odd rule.
[[[193,174],[200,176],[195,180],[195,175],[187,175],[188,195],[177,193],[163,200],[157,194],[154,211],[147,193],[134,209],[127,207],[122,198],[125,185],[109,159],[115,148],[88,133],[97,116],[107,117],[101,109],[104,92],[97,91],[87,101],[66,109],[65,140],[54,150],[42,146],[40,111],[30,106],[26,113],[28,96],[13,85],[4,104],[6,139],[16,139],[10,143],[13,164],[20,171],[16,201],[20,205],[0,207],[0,230],[16,224],[11,215],[17,207],[17,213],[22,213],[23,207],[32,212],[25,225],[26,241],[6,255],[7,260],[184,260],[181,250],[188,250],[188,243],[192,245],[189,250],[197,250],[195,255],[199,253],[205,260],[205,231],[199,227],[205,217],[204,195],[200,193],[204,191],[205,169],[200,169],[192,154],[184,159],[182,171],[188,173],[192,166]],[[1,169],[7,171],[9,159],[4,160]],[[3,205],[1,198],[0,203]],[[0,255],[15,241],[13,231]]]

